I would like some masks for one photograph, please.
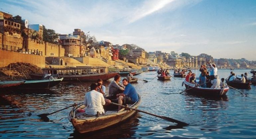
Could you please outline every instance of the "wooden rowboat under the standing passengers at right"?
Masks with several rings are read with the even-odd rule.
[[[213,89],[213,88],[201,88],[201,87],[194,87],[195,84],[189,83],[186,80],[183,81],[182,84],[185,84],[186,89],[192,88],[190,90],[187,90],[189,93],[194,93],[197,95],[205,95],[205,96],[223,96],[226,95],[226,93],[229,90],[229,87],[226,86],[222,89]],[[194,88],[193,88],[194,87]]]

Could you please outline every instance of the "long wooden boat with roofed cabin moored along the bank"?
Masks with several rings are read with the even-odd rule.
[[[76,67],[76,68],[44,68],[43,74],[32,73],[31,78],[42,79],[45,74],[58,75],[64,81],[103,81],[113,78],[118,72],[108,73],[107,67]]]

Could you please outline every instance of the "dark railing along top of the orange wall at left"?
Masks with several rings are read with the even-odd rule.
[[[25,49],[25,48],[20,48],[20,47],[16,47],[16,46],[2,45],[1,50],[43,56],[42,51]]]

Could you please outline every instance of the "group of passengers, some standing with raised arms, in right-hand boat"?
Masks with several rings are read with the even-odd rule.
[[[207,62],[209,68],[206,69],[206,65],[201,65],[199,71],[201,72],[199,75],[199,82],[196,82],[195,73],[192,73],[192,71],[189,71],[187,76],[185,77],[185,80],[192,83],[199,85],[201,88],[224,88],[225,85],[225,79],[221,78],[221,81],[217,75],[217,67],[215,64],[211,64]]]

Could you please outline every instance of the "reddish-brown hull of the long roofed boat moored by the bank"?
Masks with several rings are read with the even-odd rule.
[[[117,75],[118,72],[114,73],[97,73],[97,74],[78,74],[78,75],[59,75],[60,78],[64,78],[64,81],[69,80],[79,80],[79,81],[97,81],[98,79],[102,79],[103,81],[106,81],[108,79],[113,78],[115,75]],[[43,74],[30,74],[31,78],[35,79],[42,79]]]

